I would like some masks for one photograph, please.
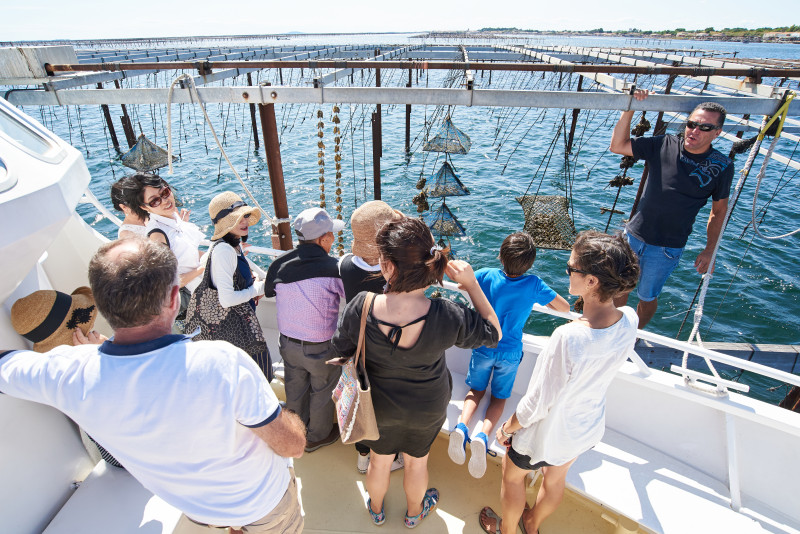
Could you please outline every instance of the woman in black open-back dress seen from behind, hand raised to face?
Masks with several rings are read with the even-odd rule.
[[[428,488],[428,453],[444,424],[453,384],[445,362],[452,346],[496,346],[500,322],[472,267],[448,261],[421,219],[386,222],[375,237],[384,294],[366,310],[366,371],[380,437],[361,443],[372,451],[367,468],[367,508],[376,525],[386,521],[384,500],[395,455],[403,453],[405,526],[416,527],[435,508],[439,492]],[[447,276],[464,289],[474,310],[447,299],[429,299],[425,290]],[[358,344],[368,293],[345,308],[332,343],[344,360]],[[329,362],[331,363],[331,362]]]

